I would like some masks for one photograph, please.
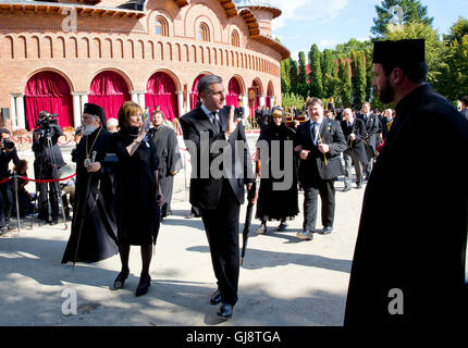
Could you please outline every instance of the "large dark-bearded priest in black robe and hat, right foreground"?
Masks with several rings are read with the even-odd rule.
[[[423,40],[377,41],[373,62],[396,117],[366,188],[344,323],[466,327],[467,122],[426,83]]]

